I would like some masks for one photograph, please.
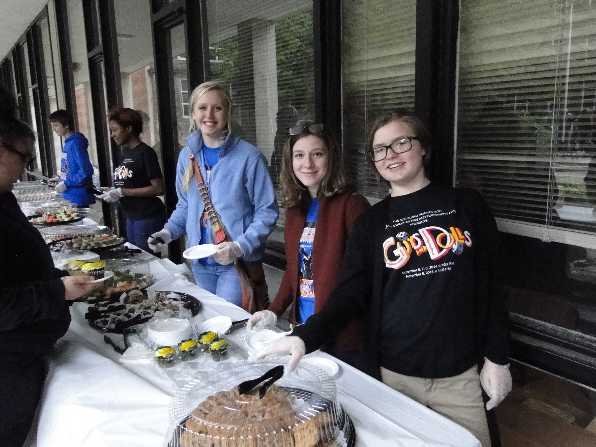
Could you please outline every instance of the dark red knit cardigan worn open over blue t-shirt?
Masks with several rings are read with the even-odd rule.
[[[322,308],[339,279],[347,235],[358,216],[370,207],[367,199],[352,188],[344,193],[324,197],[319,201],[315,240],[312,245],[312,271],[315,288],[315,313]],[[291,305],[290,319],[298,321],[299,246],[306,224],[308,209],[293,206],[285,213],[285,256],[287,266],[280,290],[269,311],[283,315]],[[358,324],[349,325],[337,338],[335,347],[349,351],[356,349]]]

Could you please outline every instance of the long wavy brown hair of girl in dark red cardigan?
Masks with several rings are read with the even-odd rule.
[[[309,126],[311,124],[313,122],[310,120],[302,120],[296,123],[298,126]],[[307,207],[311,203],[311,194],[308,192],[308,188],[294,174],[292,163],[294,144],[303,136],[308,135],[315,135],[320,138],[327,148],[327,172],[319,185],[316,193],[317,198],[320,200],[323,197],[331,197],[332,195],[343,193],[348,186],[346,173],[343,169],[341,150],[337,140],[327,129],[312,134],[305,127],[300,134],[288,136],[284,144],[281,161],[280,190],[283,195],[282,205],[287,208],[291,206]]]

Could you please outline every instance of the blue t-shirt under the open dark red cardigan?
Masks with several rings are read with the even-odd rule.
[[[316,216],[319,214],[319,201],[312,199],[311,207],[306,215],[306,224],[300,237],[298,251],[300,266],[300,322],[315,313],[315,285],[312,278],[312,243],[315,240]]]

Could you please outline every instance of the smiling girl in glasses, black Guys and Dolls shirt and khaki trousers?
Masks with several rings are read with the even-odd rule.
[[[366,315],[359,368],[490,447],[480,386],[491,398],[487,409],[511,390],[499,234],[479,193],[427,178],[430,141],[407,110],[375,120],[366,150],[391,194],[356,221],[325,306],[250,359],[289,353],[293,370]]]

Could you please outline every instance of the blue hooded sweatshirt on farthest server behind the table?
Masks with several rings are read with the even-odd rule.
[[[79,206],[95,203],[92,191],[93,166],[89,161],[88,147],[89,141],[85,135],[75,132],[64,140],[60,163],[60,179],[67,187],[62,197]]]

